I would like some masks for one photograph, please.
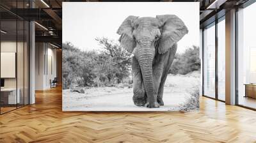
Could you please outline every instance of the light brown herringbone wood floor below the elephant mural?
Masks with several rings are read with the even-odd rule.
[[[182,112],[62,112],[61,88],[0,116],[0,142],[256,142],[256,112],[200,98]]]

